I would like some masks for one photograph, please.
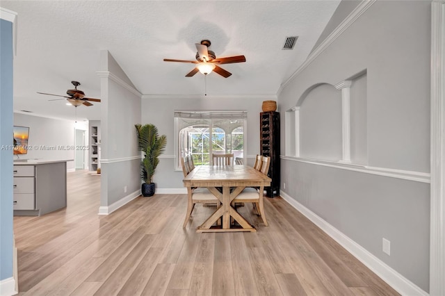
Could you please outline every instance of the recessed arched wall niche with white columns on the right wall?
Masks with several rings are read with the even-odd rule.
[[[366,165],[366,78],[364,70],[308,88],[286,112],[286,156]]]

